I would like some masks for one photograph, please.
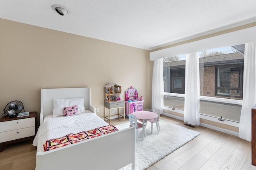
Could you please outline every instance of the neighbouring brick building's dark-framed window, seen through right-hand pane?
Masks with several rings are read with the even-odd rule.
[[[216,67],[216,96],[242,98],[242,66]]]

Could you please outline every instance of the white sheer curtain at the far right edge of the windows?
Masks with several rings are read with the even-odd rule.
[[[252,141],[252,107],[256,104],[256,42],[244,49],[244,89],[239,124],[239,137]]]

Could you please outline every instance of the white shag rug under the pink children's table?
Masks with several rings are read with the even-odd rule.
[[[116,125],[117,129],[129,127],[130,122]],[[138,129],[138,141],[135,145],[135,170],[144,170],[164,158],[174,150],[191,141],[199,132],[175,125],[173,123],[160,120],[161,131],[157,134],[156,124],[153,124],[153,133],[151,134],[151,123],[146,127],[147,137],[142,141],[142,129]],[[125,154],[125,153],[124,153]],[[120,170],[131,170],[129,164]]]

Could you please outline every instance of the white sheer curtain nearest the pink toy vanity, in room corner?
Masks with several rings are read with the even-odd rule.
[[[152,76],[152,109],[158,108],[163,113],[164,106],[164,78],[163,78],[164,60],[154,60]]]

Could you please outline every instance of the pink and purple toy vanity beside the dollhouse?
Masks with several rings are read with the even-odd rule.
[[[143,110],[143,102],[144,98],[142,96],[138,98],[138,92],[135,88],[132,86],[128,88],[125,92],[126,117],[128,117],[129,113]]]

